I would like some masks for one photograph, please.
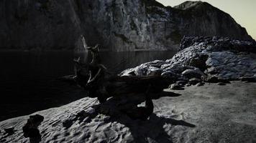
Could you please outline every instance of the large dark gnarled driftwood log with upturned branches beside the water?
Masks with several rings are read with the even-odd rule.
[[[92,60],[89,64],[84,64],[80,59],[74,61],[76,70],[73,76],[63,78],[65,82],[78,84],[78,86],[89,92],[89,97],[97,97],[99,102],[106,102],[109,97],[119,97],[122,95],[138,94],[145,96],[145,92],[150,94],[163,94],[163,89],[170,84],[168,79],[160,76],[119,76],[111,74],[106,67],[101,64],[99,58],[99,47],[88,48],[92,54]],[[147,91],[150,86],[149,91]],[[165,93],[166,94],[166,93]]]

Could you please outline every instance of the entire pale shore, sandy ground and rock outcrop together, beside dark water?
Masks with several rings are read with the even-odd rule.
[[[86,97],[35,113],[42,117],[0,122],[0,142],[34,142],[35,137],[35,142],[255,142],[255,50],[255,41],[184,37],[172,59],[120,74],[170,79],[165,92],[180,96],[153,100],[149,120],[129,119],[119,112],[114,98],[99,104]],[[35,122],[35,117],[42,119]],[[40,134],[25,136],[24,130],[30,129]]]

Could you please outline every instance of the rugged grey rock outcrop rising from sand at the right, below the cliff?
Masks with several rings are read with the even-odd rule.
[[[147,76],[155,71],[170,78],[173,86],[199,82],[229,83],[232,80],[256,80],[256,43],[216,36],[184,37],[180,51],[172,59],[151,61],[120,75]],[[160,73],[159,73],[160,72]],[[151,73],[152,74],[152,73]]]

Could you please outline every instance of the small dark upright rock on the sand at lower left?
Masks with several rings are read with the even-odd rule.
[[[22,127],[24,137],[40,140],[41,134],[37,127],[41,124],[43,120],[44,117],[42,117],[40,114],[29,116],[29,119],[27,119],[27,123],[24,125],[24,127]]]

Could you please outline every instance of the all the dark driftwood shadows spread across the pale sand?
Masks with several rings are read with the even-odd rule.
[[[152,95],[153,99],[158,99],[160,97],[178,97],[180,94],[174,94],[169,92],[168,94],[157,94]],[[138,97],[138,98],[135,98]],[[124,100],[125,99],[125,100]],[[125,127],[129,128],[131,132],[133,141],[132,142],[173,142],[170,133],[170,129],[174,126],[183,126],[183,127],[196,127],[194,124],[190,124],[183,120],[170,119],[165,117],[158,117],[157,114],[152,113],[150,119],[147,121],[141,120],[132,120],[126,114],[120,112],[120,109],[130,108],[137,106],[143,101],[142,96],[138,95],[128,95],[125,97],[112,97],[108,99],[104,104],[94,105],[92,108],[95,109],[95,112],[85,112],[81,111],[76,114],[76,118],[68,122],[64,122],[63,126],[69,128],[74,120],[82,122],[84,119],[89,118],[87,122],[90,122],[91,119],[94,119],[99,114],[105,114],[109,116],[109,119],[104,119],[104,123],[113,123],[118,122],[124,124]],[[132,102],[131,102],[132,101]],[[130,104],[129,104],[130,103]],[[131,104],[132,103],[132,104]],[[125,105],[125,106],[124,106]]]

